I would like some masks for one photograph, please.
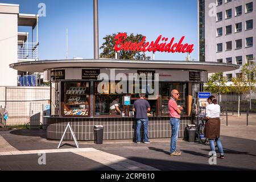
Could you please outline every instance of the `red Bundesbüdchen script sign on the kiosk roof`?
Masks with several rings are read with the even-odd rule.
[[[167,43],[168,38],[162,38],[162,35],[159,35],[158,38],[154,41],[145,42],[146,36],[143,37],[142,42],[125,42],[125,39],[127,38],[126,33],[120,33],[115,36],[115,51],[121,51],[122,49],[124,51],[139,51],[139,52],[189,52],[191,53],[193,51],[194,44],[183,44],[183,40],[185,36],[182,36],[180,38],[180,41],[178,43],[174,43],[174,38],[171,39],[170,43]],[[162,42],[159,44],[159,42]]]

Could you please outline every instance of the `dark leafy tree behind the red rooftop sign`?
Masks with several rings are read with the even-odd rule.
[[[106,35],[105,42],[102,44],[100,49],[103,49],[102,53],[100,54],[101,58],[115,58],[115,51],[114,51],[114,45],[115,45],[115,36],[117,34],[112,35]],[[141,42],[143,38],[142,34],[137,34],[134,36],[134,34],[127,35],[126,41],[131,42]],[[144,52],[137,52],[137,51],[120,51],[120,59],[127,59],[127,60],[150,60],[150,56],[146,56]]]

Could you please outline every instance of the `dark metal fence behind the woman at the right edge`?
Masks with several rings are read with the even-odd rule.
[[[225,111],[232,113],[256,114],[256,93],[251,94],[213,94]]]

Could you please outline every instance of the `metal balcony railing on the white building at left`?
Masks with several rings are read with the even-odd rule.
[[[38,60],[38,45],[35,42],[18,43],[18,59]]]

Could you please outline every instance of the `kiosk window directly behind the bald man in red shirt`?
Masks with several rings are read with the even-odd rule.
[[[180,97],[179,100],[177,100],[177,105],[180,105],[184,108],[181,114],[186,114],[188,96],[187,83],[162,82],[160,83],[160,92],[162,92],[162,115],[169,115],[168,101],[171,98],[172,89],[179,91]]]

